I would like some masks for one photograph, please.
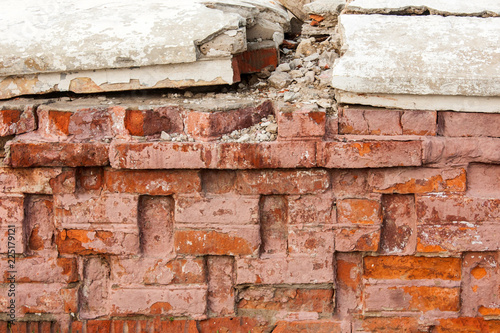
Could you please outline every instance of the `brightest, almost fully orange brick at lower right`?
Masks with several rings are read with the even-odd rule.
[[[460,258],[380,256],[364,257],[365,279],[451,280],[461,279]]]

